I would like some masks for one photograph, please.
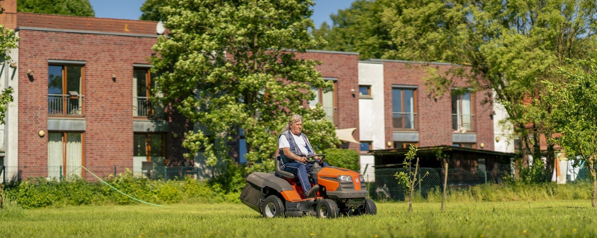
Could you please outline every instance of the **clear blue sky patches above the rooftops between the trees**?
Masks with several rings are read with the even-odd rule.
[[[141,5],[145,0],[89,0],[96,11],[96,17],[139,19]],[[319,27],[321,23],[330,21],[330,14],[338,9],[350,7],[353,0],[315,0],[313,7],[313,23]]]

